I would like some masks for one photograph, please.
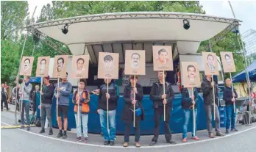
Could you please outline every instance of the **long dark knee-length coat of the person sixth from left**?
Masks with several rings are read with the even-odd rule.
[[[135,106],[135,109],[141,107],[142,115],[141,120],[144,120],[144,109],[142,106],[142,99],[143,99],[143,89],[141,84],[136,84],[137,94],[135,94],[135,100],[137,100],[138,105]],[[124,120],[125,123],[132,123],[133,120],[133,104],[131,97],[131,91],[133,90],[132,84],[129,83],[127,86],[124,87],[124,109],[122,112],[121,119]]]

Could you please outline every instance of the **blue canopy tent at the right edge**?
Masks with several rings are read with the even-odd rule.
[[[256,82],[256,60],[249,65],[248,73],[251,82]],[[246,82],[246,72],[243,70],[241,73],[232,77],[233,82]]]

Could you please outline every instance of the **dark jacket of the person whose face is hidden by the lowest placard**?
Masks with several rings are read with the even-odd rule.
[[[198,92],[196,87],[193,88],[193,96],[195,96],[195,109],[197,107],[197,98]],[[190,109],[191,106],[193,106],[192,104],[192,99],[189,97],[189,92],[188,92],[188,88],[183,88],[182,89],[182,109]]]

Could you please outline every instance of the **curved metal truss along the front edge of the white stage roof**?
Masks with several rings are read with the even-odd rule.
[[[33,23],[26,26],[26,29],[40,29],[48,26],[59,26],[65,25],[65,23],[80,23],[80,22],[90,22],[90,21],[106,21],[115,19],[141,19],[141,18],[168,18],[168,19],[188,19],[188,20],[199,20],[199,21],[213,21],[220,23],[230,23],[238,25],[239,20],[233,18],[218,18],[211,15],[203,14],[193,14],[184,12],[114,12],[106,14],[96,14],[96,15],[83,15],[72,18],[63,18],[51,21],[45,21],[41,23]]]

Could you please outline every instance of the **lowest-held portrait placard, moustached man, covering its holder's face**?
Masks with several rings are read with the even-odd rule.
[[[182,85],[184,87],[200,87],[199,66],[197,62],[181,62]]]

